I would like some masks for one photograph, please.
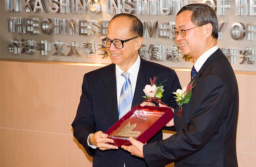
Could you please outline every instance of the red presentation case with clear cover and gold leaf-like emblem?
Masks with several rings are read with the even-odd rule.
[[[169,107],[137,105],[109,128],[105,134],[114,140],[114,143],[109,144],[118,147],[131,145],[128,139],[130,136],[145,144],[172,118],[173,111]]]

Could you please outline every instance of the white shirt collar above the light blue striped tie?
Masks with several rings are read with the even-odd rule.
[[[132,64],[132,66],[127,70],[130,76],[137,78],[140,68],[140,56],[138,55],[137,60]],[[116,64],[116,78],[118,79],[124,71]]]

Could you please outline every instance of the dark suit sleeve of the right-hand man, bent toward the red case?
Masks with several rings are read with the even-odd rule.
[[[167,165],[196,153],[211,140],[225,119],[228,95],[224,82],[218,76],[208,74],[196,87],[189,123],[177,134],[143,146],[148,166]]]

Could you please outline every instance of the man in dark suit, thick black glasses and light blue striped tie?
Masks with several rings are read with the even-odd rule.
[[[107,144],[113,140],[103,132],[144,101],[143,89],[150,84],[150,78],[158,76],[157,83],[168,79],[163,82],[165,97],[162,101],[175,107],[171,93],[180,88],[178,77],[173,69],[140,58],[138,49],[142,44],[142,34],[143,26],[136,16],[115,15],[108,25],[106,38],[102,39],[113,64],[84,75],[80,104],[72,127],[78,142],[93,156],[93,166],[146,166],[143,158]],[[162,131],[148,143],[160,140]]]

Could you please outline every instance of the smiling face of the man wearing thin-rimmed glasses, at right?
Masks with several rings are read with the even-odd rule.
[[[189,10],[178,14],[175,21],[175,31],[196,27],[191,21],[191,15],[192,11]],[[207,37],[204,35],[203,28],[204,26],[187,30],[185,36],[178,35],[176,38],[176,42],[179,44],[182,54],[193,57],[194,61],[202,54],[207,45]]]

